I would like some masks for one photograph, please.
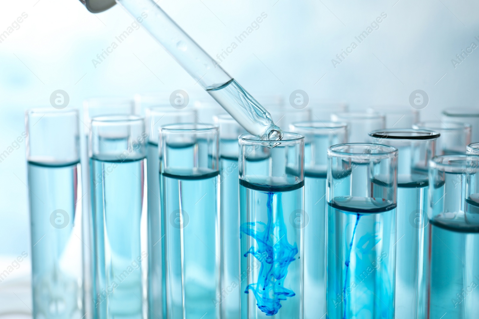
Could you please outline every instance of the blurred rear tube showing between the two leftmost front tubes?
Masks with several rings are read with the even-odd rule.
[[[93,221],[91,220],[91,189],[90,189],[90,164],[89,164],[89,132],[91,118],[102,115],[134,115],[137,108],[132,99],[120,97],[91,98],[83,101],[83,121],[81,121],[83,138],[80,140],[81,148],[81,185],[84,189],[83,205],[83,243],[87,249],[83,250],[83,273],[85,291],[85,318],[91,319],[94,313],[93,302],[93,261],[95,247],[93,245]]]

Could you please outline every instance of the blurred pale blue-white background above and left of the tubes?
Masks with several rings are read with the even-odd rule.
[[[422,89],[430,98],[422,119],[435,119],[445,107],[477,107],[479,49],[456,68],[451,59],[471,42],[479,44],[479,2],[396,1],[159,4],[212,56],[265,12],[260,28],[221,64],[253,95],[287,98],[303,89],[310,97],[347,101],[354,110],[407,105],[410,93]],[[144,30],[93,67],[91,60],[133,21],[119,6],[95,16],[78,0],[3,0],[0,33],[22,12],[28,18],[0,43],[0,153],[24,131],[24,110],[49,105],[57,89],[68,92],[69,107],[95,96],[169,96],[180,88],[191,99],[207,97]],[[388,17],[380,28],[334,68],[331,59],[381,12]],[[0,163],[0,177],[0,256],[16,256],[30,251],[24,143]]]

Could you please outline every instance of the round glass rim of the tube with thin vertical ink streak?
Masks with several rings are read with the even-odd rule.
[[[362,147],[363,150],[382,150],[381,152],[376,153],[352,153],[352,152],[344,152],[341,151],[345,148],[351,147]],[[398,156],[398,149],[394,146],[384,145],[384,144],[377,144],[377,143],[342,143],[336,144],[328,147],[328,157],[344,157],[356,160],[365,160],[369,162],[372,158],[393,158]]]

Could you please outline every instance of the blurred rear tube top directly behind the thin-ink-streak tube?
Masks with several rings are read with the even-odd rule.
[[[348,125],[348,141],[350,143],[369,143],[369,132],[385,128],[386,118],[379,113],[367,111],[331,114],[331,121]]]

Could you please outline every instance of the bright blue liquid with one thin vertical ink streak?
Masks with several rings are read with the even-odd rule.
[[[396,205],[351,196],[328,204],[327,318],[392,319]]]

